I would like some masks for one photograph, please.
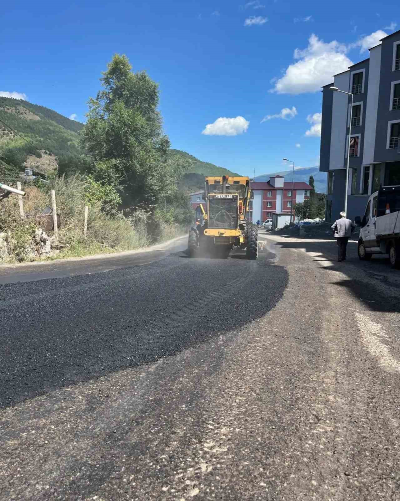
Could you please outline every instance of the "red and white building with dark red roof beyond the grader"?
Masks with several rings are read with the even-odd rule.
[[[309,198],[312,187],[304,182],[284,182],[283,176],[272,176],[267,182],[252,182],[250,185],[254,198],[250,202],[247,219],[253,223],[265,221],[272,214],[290,214],[291,203],[294,205]]]

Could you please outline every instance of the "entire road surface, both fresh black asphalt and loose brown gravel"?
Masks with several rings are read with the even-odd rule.
[[[0,269],[1,500],[400,500],[400,273],[261,238]]]

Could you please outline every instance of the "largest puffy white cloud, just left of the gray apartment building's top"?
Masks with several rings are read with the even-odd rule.
[[[319,91],[322,85],[332,81],[332,75],[352,65],[346,51],[344,44],[336,40],[325,43],[312,34],[306,49],[294,51],[293,58],[299,61],[289,65],[283,77],[274,80],[270,92],[296,95]]]

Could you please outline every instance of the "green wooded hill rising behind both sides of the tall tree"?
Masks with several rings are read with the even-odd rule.
[[[84,171],[88,159],[79,146],[82,127],[82,123],[44,106],[0,97],[0,159],[15,167],[16,170],[9,173],[10,179],[24,167],[42,174],[56,167],[61,173]],[[180,183],[185,190],[201,189],[205,175],[234,175],[230,170],[203,162],[185,151],[172,149],[171,154],[188,164]]]

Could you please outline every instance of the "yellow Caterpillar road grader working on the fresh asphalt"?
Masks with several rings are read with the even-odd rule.
[[[248,177],[205,177],[206,210],[203,224],[191,226],[188,253],[228,254],[233,247],[246,249],[247,259],[257,259],[257,226],[246,221],[252,198]]]

